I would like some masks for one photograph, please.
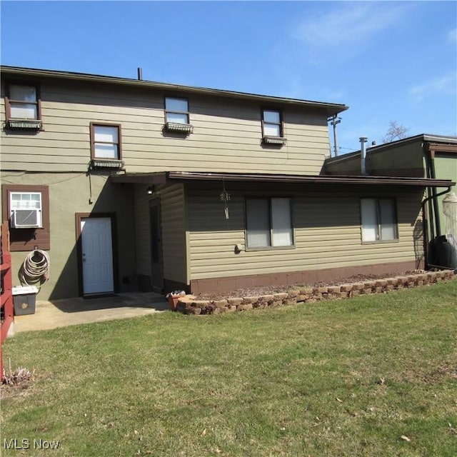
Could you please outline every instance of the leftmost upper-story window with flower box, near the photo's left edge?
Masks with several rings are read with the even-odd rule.
[[[6,121],[12,129],[40,129],[39,89],[32,84],[11,83],[6,89]]]

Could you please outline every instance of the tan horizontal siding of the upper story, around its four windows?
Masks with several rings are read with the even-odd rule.
[[[2,167],[8,170],[86,171],[89,123],[121,124],[126,170],[250,171],[319,174],[330,153],[326,114],[283,111],[286,145],[261,145],[261,104],[230,99],[189,98],[194,133],[163,134],[164,96],[159,91],[104,85],[83,86],[51,79],[41,83],[44,131],[1,132]],[[3,87],[0,121],[5,120]]]

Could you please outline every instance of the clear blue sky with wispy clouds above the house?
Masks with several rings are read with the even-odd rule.
[[[349,106],[339,154],[457,136],[456,1],[1,1],[1,64]]]

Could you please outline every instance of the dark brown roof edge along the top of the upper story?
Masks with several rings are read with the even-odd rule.
[[[27,69],[17,66],[0,66],[1,74],[11,77],[27,76],[29,78],[56,78],[69,79],[71,81],[86,81],[104,84],[119,84],[124,86],[143,87],[145,89],[160,89],[162,91],[179,91],[186,94],[199,94],[206,96],[228,97],[231,99],[243,99],[259,101],[261,103],[278,105],[295,105],[308,108],[324,109],[331,116],[346,111],[349,106],[344,104],[326,103],[323,101],[311,101],[301,99],[288,99],[277,96],[249,94],[247,92],[225,91],[222,89],[209,89],[206,87],[182,86],[180,84],[167,84],[156,81],[144,81],[139,79],[119,78],[116,76],[101,76],[96,74],[76,73],[71,71],[56,71],[44,69]]]

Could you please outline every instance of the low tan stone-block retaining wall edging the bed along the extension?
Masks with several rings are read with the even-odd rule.
[[[402,288],[438,283],[452,278],[454,278],[453,270],[426,271],[408,276],[373,279],[358,283],[340,284],[339,286],[296,287],[287,292],[272,293],[271,295],[221,298],[220,300],[197,300],[195,296],[187,295],[179,299],[178,310],[186,314],[219,314],[253,308],[267,308],[268,306],[316,303],[316,301],[321,300],[386,293]]]

